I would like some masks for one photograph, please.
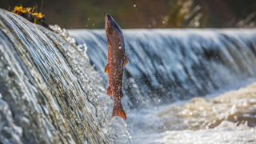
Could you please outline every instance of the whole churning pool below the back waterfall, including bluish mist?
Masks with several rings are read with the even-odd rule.
[[[237,86],[223,87],[223,90],[206,95],[205,98],[178,101],[170,106],[130,110],[127,128],[133,142],[254,143],[256,83],[237,90],[251,82],[255,82],[255,79]]]

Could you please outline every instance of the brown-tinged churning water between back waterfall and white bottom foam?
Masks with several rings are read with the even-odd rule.
[[[256,84],[221,94],[216,98],[192,98],[182,106],[171,105],[158,114],[166,129],[211,129],[223,121],[256,126]],[[174,116],[175,115],[175,116]],[[178,118],[177,122],[173,118]],[[181,122],[182,125],[179,125]],[[174,126],[177,123],[179,126]],[[174,127],[173,127],[174,126]]]

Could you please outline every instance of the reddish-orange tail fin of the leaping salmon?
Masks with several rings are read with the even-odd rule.
[[[126,120],[126,113],[122,108],[121,98],[114,97],[114,107],[112,117],[119,116]]]

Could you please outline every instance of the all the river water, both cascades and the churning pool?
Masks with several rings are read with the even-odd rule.
[[[123,30],[124,121],[105,31],[50,27],[0,9],[0,143],[256,143],[255,29]]]

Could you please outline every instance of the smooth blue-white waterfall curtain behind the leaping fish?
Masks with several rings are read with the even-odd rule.
[[[203,96],[256,76],[256,30],[122,30],[128,106]],[[107,86],[104,30],[70,30]],[[83,46],[82,44],[86,44]]]

